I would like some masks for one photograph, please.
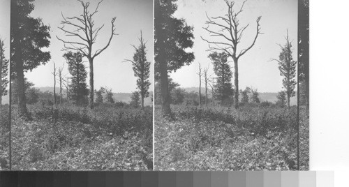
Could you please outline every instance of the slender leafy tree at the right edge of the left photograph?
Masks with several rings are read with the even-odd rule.
[[[133,72],[135,73],[135,77],[138,77],[137,87],[140,91],[140,106],[144,108],[144,98],[149,96],[149,75],[150,75],[150,61],[147,61],[147,51],[145,49],[145,43],[142,37],[142,31],[140,31],[140,45],[135,48],[135,54],[133,54],[133,61],[131,61],[133,65]]]

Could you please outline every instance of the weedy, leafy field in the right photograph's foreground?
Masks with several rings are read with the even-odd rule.
[[[172,105],[169,118],[160,106],[155,112],[155,170],[297,170],[297,107]],[[300,118],[299,169],[309,170],[309,125]]]

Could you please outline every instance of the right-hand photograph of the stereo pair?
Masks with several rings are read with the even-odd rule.
[[[309,170],[299,6],[154,1],[155,170]]]

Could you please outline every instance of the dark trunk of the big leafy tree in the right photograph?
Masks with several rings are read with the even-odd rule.
[[[168,91],[168,70],[167,63],[160,63],[160,79],[161,79],[161,105],[163,110],[163,115],[171,114],[170,107],[170,93]]]

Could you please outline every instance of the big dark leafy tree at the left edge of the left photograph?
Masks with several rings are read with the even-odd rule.
[[[50,52],[43,52],[43,47],[50,45],[50,27],[40,18],[30,17],[34,10],[34,0],[11,1],[10,13],[10,66],[17,79],[18,109],[20,115],[27,114],[24,93],[24,72],[50,60]]]

